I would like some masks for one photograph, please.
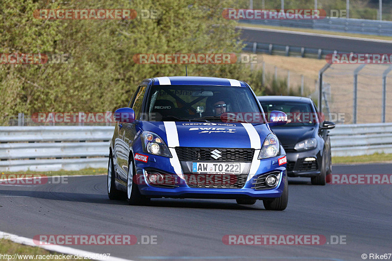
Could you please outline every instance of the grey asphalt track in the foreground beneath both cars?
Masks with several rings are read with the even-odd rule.
[[[334,166],[336,174],[391,174],[392,164]],[[131,260],[363,260],[392,253],[392,185],[311,186],[291,178],[289,206],[234,200],[155,199],[128,206],[107,197],[106,176],[68,177],[68,184],[1,185],[0,231],[35,235],[157,236],[158,244],[70,246]],[[224,235],[343,236],[346,244],[225,245]],[[392,257],[391,257],[392,259]]]

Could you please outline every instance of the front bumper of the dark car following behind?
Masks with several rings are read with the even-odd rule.
[[[322,155],[318,148],[308,151],[286,151],[287,175],[289,177],[314,177],[320,175]],[[315,161],[306,161],[306,159]]]

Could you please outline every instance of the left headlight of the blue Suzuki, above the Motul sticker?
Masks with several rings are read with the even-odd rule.
[[[172,158],[166,143],[153,132],[144,131],[140,135],[143,144],[143,151],[146,153]]]

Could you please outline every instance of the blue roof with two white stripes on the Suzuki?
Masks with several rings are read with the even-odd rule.
[[[215,77],[171,76],[152,78],[153,85],[216,85],[246,87],[245,82]]]

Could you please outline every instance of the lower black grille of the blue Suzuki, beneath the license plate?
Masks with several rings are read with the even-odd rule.
[[[205,189],[241,189],[244,187],[247,174],[184,174],[190,188]]]

